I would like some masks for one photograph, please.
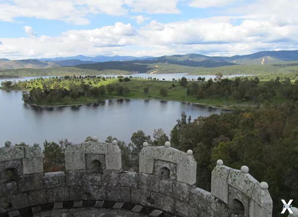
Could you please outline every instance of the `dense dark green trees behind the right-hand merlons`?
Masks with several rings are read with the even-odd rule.
[[[210,190],[211,172],[218,159],[224,165],[249,166],[257,180],[266,181],[274,201],[298,200],[298,104],[214,114],[191,120],[185,114],[171,131],[174,147],[192,149],[197,166],[197,185]]]

